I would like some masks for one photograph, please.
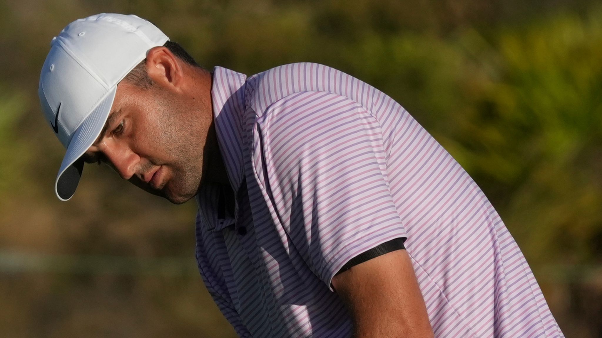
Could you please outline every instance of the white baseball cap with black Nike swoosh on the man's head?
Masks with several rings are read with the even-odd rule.
[[[69,200],[77,188],[81,156],[101,133],[119,81],[167,40],[147,20],[105,13],[75,20],[52,38],[38,94],[46,120],[67,149],[54,185],[60,200]]]

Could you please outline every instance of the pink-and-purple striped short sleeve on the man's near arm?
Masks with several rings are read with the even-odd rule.
[[[353,257],[406,238],[379,123],[359,103],[296,93],[273,103],[255,129],[254,167],[273,221],[329,288]]]

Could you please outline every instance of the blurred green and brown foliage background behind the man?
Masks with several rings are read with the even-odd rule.
[[[137,14],[202,66],[314,61],[400,102],[473,176],[566,337],[602,336],[602,5],[588,0],[3,0],[0,336],[235,337],[194,261],[196,205],[172,206],[64,154],[37,81],[79,17]]]

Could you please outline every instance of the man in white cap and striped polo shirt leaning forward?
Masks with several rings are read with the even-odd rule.
[[[241,337],[563,337],[467,173],[390,97],[338,70],[203,70],[157,27],[99,14],[53,39],[46,120],[83,162],[196,197],[197,262]]]

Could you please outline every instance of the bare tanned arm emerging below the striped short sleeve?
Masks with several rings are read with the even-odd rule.
[[[332,278],[332,285],[349,307],[354,337],[433,337],[406,250],[353,266]]]

